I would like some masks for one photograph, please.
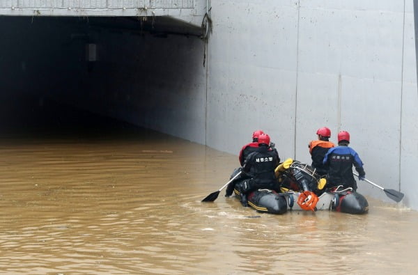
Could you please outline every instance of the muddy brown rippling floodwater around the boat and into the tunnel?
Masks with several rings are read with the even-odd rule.
[[[201,199],[238,158],[130,129],[0,140],[1,274],[412,274],[418,214],[260,214]],[[378,190],[376,190],[378,191]]]

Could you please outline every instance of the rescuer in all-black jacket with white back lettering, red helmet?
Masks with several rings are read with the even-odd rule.
[[[268,134],[260,134],[258,136],[258,148],[255,152],[251,152],[245,159],[242,166],[242,172],[249,179],[240,185],[241,203],[248,206],[247,194],[256,189],[272,189],[280,191],[274,169],[279,165],[280,158],[277,150],[270,148],[270,136]]]

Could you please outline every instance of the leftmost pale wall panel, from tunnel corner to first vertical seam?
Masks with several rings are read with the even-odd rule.
[[[212,1],[208,146],[236,154],[263,129],[293,157],[297,13],[293,1]]]

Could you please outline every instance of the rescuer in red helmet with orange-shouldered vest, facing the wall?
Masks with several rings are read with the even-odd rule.
[[[311,141],[308,145],[312,159],[311,166],[316,168],[318,175],[323,176],[327,174],[327,168],[323,164],[325,154],[335,145],[330,141],[331,130],[329,128],[319,128],[316,134],[318,135],[318,140]]]

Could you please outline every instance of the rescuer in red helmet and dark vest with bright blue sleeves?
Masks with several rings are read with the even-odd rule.
[[[338,134],[338,146],[330,148],[325,154],[323,164],[328,167],[327,188],[342,185],[357,190],[357,182],[353,175],[353,166],[359,173],[359,180],[366,178],[363,162],[353,148],[348,147],[350,134],[341,131]]]

